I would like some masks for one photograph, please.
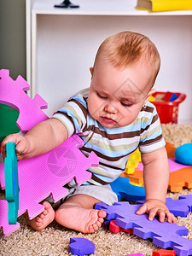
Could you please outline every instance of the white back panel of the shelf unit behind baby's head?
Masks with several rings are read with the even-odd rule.
[[[154,41],[161,55],[155,88],[187,94],[179,122],[192,121],[192,16],[38,15],[37,92],[49,103],[47,113],[89,86],[99,44],[123,30],[142,32]]]

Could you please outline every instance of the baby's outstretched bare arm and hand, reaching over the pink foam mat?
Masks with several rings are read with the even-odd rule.
[[[26,159],[49,152],[67,140],[67,137],[67,128],[60,120],[48,119],[32,127],[25,136],[11,134],[5,137],[1,144],[1,152],[5,157],[6,144],[15,143],[17,159]]]

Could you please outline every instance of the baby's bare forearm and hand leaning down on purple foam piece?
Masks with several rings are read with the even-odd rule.
[[[169,166],[166,148],[160,148],[151,153],[142,154],[143,179],[146,201],[137,214],[148,213],[148,219],[153,220],[159,215],[160,222],[165,217],[170,223],[176,223],[176,218],[166,207],[166,191],[169,181]]]

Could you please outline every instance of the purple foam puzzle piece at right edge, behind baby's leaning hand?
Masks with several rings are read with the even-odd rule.
[[[143,204],[144,201],[137,201],[137,204]],[[179,196],[178,200],[171,197],[166,198],[166,207],[175,216],[186,217],[192,211],[192,195]]]

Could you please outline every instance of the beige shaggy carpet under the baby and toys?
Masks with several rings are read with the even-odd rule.
[[[175,147],[183,143],[192,143],[192,125],[162,125],[166,142],[173,143]],[[192,175],[192,174],[191,174]],[[192,194],[192,189],[183,189],[179,193],[167,193],[168,197],[177,199],[179,195]],[[0,192],[3,199],[3,191]],[[1,212],[0,212],[1,214]],[[146,256],[152,255],[154,250],[159,250],[148,240],[124,232],[113,234],[104,225],[94,234],[84,235],[79,232],[67,230],[55,222],[41,231],[37,232],[27,226],[25,219],[19,218],[20,229],[10,236],[3,237],[3,230],[0,230],[0,255],[15,256],[40,256],[47,255],[70,255],[68,245],[70,237],[85,237],[96,245],[96,256],[124,256],[126,254],[143,253]],[[177,218],[178,225],[184,225],[189,229],[189,239],[192,239],[192,214],[187,218]]]

